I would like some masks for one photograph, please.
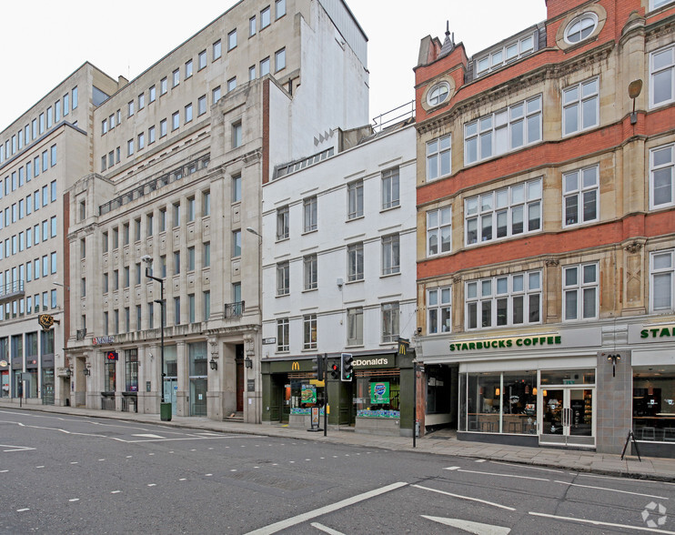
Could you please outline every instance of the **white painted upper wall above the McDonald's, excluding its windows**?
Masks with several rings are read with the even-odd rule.
[[[400,335],[416,325],[415,127],[407,126],[277,179],[263,187],[263,337],[276,338],[277,318],[290,318],[290,350],[263,347],[263,358],[344,351],[347,308],[364,308],[364,344],[355,352],[389,350],[381,344],[381,303],[400,303]],[[381,210],[381,172],[399,167],[400,206]],[[347,220],[347,187],[364,182],[364,217]],[[303,232],[303,198],[317,196],[318,225]],[[277,207],[289,206],[290,236],[277,241]],[[400,234],[400,274],[381,276],[381,237]],[[364,242],[364,281],[347,282],[347,246]],[[318,288],[303,291],[303,257],[317,254]],[[277,262],[290,263],[290,294],[276,297]],[[342,288],[337,279],[345,281]],[[303,350],[302,318],[317,314],[317,349]]]

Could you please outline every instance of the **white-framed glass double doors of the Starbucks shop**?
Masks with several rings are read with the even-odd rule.
[[[594,446],[593,389],[546,389],[542,392],[539,442]]]

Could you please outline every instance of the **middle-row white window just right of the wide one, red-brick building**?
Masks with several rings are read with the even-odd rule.
[[[598,220],[598,166],[577,169],[562,175],[564,227]]]

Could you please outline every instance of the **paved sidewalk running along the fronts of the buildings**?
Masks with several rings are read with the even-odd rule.
[[[367,448],[418,451],[469,459],[488,459],[522,465],[568,469],[577,472],[592,472],[623,478],[675,482],[675,459],[642,457],[642,460],[639,461],[637,456],[626,456],[621,460],[620,455],[588,450],[531,448],[488,442],[470,442],[458,440],[453,431],[446,429],[429,433],[417,439],[416,447],[413,448],[411,438],[371,435],[357,433],[353,430],[332,429],[332,427],[328,427],[327,436],[324,437],[323,432],[307,432],[307,429],[289,428],[282,424],[249,424],[180,416],[173,416],[171,421],[162,421],[158,414],[31,404],[19,408],[18,403],[4,400],[0,400],[0,409],[40,411],[84,418],[120,419],[183,429],[315,440],[317,442],[349,444]]]

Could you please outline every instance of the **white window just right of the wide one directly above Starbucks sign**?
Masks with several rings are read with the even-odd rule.
[[[562,268],[563,318],[598,317],[598,264]]]

